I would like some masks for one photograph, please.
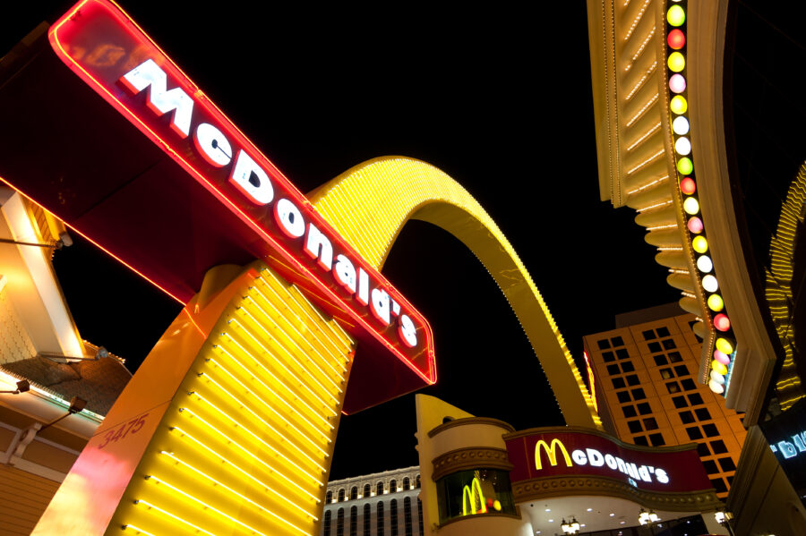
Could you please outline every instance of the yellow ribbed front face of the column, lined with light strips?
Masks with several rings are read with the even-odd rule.
[[[210,330],[107,533],[318,532],[355,343],[255,266],[259,277]]]

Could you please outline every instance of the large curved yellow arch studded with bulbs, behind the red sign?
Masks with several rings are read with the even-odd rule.
[[[379,157],[347,170],[308,197],[378,269],[409,219],[438,225],[456,236],[481,260],[510,302],[565,421],[601,428],[579,370],[518,254],[484,208],[448,174],[413,158]]]

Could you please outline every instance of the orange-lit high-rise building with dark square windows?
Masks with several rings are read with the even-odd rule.
[[[584,337],[605,428],[644,446],[696,442],[717,496],[733,481],[746,430],[696,379],[701,343],[695,317],[677,303],[616,316],[616,328]]]

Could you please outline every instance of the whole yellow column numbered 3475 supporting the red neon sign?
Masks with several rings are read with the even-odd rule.
[[[34,534],[319,532],[356,344],[262,263],[232,268],[210,271]]]

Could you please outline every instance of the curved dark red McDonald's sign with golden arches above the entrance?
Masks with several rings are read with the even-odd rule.
[[[515,465],[510,472],[513,484],[579,474],[627,481],[652,491],[712,488],[694,446],[638,447],[597,432],[567,430],[533,429],[505,436]]]

